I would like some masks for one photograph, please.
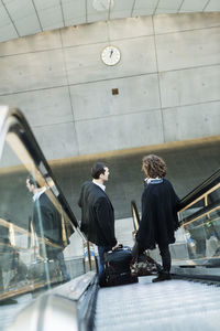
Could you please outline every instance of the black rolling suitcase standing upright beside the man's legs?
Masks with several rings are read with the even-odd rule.
[[[105,255],[106,285],[117,286],[138,282],[138,277],[131,275],[132,260],[130,247],[119,247]]]

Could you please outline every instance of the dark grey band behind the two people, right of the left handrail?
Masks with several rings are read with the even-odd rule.
[[[131,216],[131,200],[135,200],[140,210],[143,190],[144,173],[141,171],[142,158],[148,153],[156,153],[167,163],[167,179],[169,179],[179,197],[184,197],[204,180],[220,168],[220,141],[204,141],[186,146],[170,146],[162,149],[135,151],[121,156],[105,156],[99,159],[107,162],[110,178],[107,183],[107,194],[114,206],[116,218]],[[63,190],[76,217],[80,218],[77,205],[80,185],[84,181],[91,180],[90,168],[97,158],[89,160],[61,161],[51,168]]]

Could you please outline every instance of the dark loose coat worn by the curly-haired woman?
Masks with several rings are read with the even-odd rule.
[[[161,183],[148,183],[142,194],[142,218],[136,241],[144,248],[153,249],[156,244],[175,243],[174,232],[178,228],[177,205],[179,199],[166,179]]]

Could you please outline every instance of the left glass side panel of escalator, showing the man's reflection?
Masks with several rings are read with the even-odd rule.
[[[85,271],[82,258],[74,264],[80,247],[73,247],[81,238],[76,241],[53,180],[42,175],[14,134],[7,140],[0,162],[0,300]]]

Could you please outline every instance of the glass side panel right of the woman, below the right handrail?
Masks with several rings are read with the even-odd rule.
[[[186,243],[183,261],[220,266],[220,188],[211,189],[201,200],[179,213]],[[175,245],[174,247],[175,248]],[[178,257],[177,257],[178,258]]]

